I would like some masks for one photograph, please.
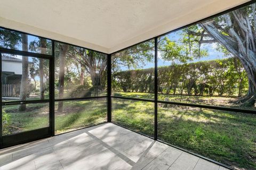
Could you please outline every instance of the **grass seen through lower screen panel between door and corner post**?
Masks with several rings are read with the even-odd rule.
[[[107,121],[106,99],[64,101],[63,112],[55,105],[55,134],[72,131]]]

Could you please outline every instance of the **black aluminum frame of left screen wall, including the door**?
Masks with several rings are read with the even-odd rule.
[[[44,58],[46,60],[49,60],[49,77],[50,77],[50,80],[49,80],[49,91],[50,91],[49,99],[26,100],[26,101],[2,101],[2,86],[0,87],[1,115],[2,115],[2,106],[19,105],[19,104],[49,103],[49,127],[46,127],[46,128],[30,130],[30,131],[20,132],[20,133],[17,133],[17,134],[11,134],[11,135],[4,135],[3,136],[3,134],[2,134],[2,116],[0,116],[0,128],[1,128],[1,131],[0,131],[0,149],[15,146],[15,145],[20,145],[22,143],[27,143],[27,142],[31,142],[31,141],[35,141],[35,140],[39,140],[39,139],[43,139],[43,138],[53,137],[55,135],[55,113],[54,113],[54,104],[55,104],[55,102],[70,101],[70,100],[86,100],[86,99],[106,98],[107,99],[107,107],[108,107],[108,109],[109,108],[111,109],[111,107],[109,107],[109,97],[108,97],[108,95],[107,96],[95,96],[95,97],[83,97],[83,98],[64,98],[64,99],[55,99],[54,98],[54,88],[55,88],[54,87],[54,80],[55,80],[55,78],[54,78],[54,74],[55,74],[55,66],[54,66],[55,50],[54,49],[55,49],[55,43],[56,42],[57,43],[63,43],[63,44],[67,44],[67,45],[75,46],[75,47],[79,47],[79,48],[84,48],[84,47],[68,44],[68,43],[65,43],[65,42],[57,41],[57,40],[52,40],[52,39],[41,37],[41,36],[36,36],[36,35],[30,34],[30,33],[17,31],[17,30],[13,30],[13,29],[9,29],[9,28],[4,28],[4,27],[0,27],[0,28],[5,29],[5,30],[10,30],[10,31],[23,33],[23,34],[30,35],[30,36],[44,38],[44,39],[52,41],[52,54],[51,55],[41,54],[41,53],[33,53],[33,52],[26,52],[26,51],[17,50],[17,49],[9,49],[9,48],[0,47],[0,85],[2,84],[2,54],[21,55],[21,56],[28,56],[28,57]],[[89,49],[89,48],[84,48],[84,49],[92,50],[92,49]],[[93,50],[93,51],[98,52],[97,50]],[[106,54],[106,53],[102,53],[102,52],[98,52],[98,53],[105,54],[105,55],[107,55],[108,58],[111,57],[109,54]],[[109,60],[109,59],[107,59],[107,60]],[[111,67],[111,65],[109,67]],[[108,85],[109,85],[109,83],[108,83]],[[111,87],[111,84],[110,84],[110,87]],[[108,92],[109,92],[109,88],[108,88]],[[108,112],[107,112],[107,117],[108,117],[107,122],[109,121],[109,117],[110,117],[109,113],[111,113],[111,112],[109,112],[109,110],[108,110]],[[106,122],[103,122],[103,123],[106,123]],[[100,123],[100,124],[102,124],[102,123]],[[92,126],[95,126],[95,125],[92,125]],[[88,127],[91,127],[91,126],[87,126],[85,128],[88,128]],[[84,128],[80,128],[80,129],[84,129]],[[77,129],[77,130],[80,130],[80,129]],[[68,132],[65,132],[65,133],[68,133]],[[60,134],[56,134],[56,135],[60,135]]]

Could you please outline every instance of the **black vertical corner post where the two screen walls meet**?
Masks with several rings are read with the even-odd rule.
[[[107,98],[107,119],[111,122],[111,54],[107,58],[107,84],[108,84],[108,98]]]

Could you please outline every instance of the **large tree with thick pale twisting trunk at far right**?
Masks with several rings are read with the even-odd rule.
[[[202,22],[201,27],[207,32],[197,32],[206,41],[215,41],[238,58],[249,78],[249,90],[239,100],[243,106],[252,106],[256,98],[256,16],[255,4]],[[195,35],[195,33],[192,33]],[[210,37],[210,39],[209,39]]]

